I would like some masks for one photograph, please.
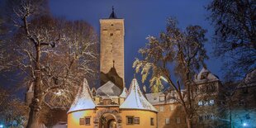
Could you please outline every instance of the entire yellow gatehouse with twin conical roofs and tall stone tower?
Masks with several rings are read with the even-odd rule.
[[[68,111],[69,128],[156,128],[158,111],[147,101],[134,78],[124,83],[124,19],[114,10],[101,19],[101,87],[84,79]]]

